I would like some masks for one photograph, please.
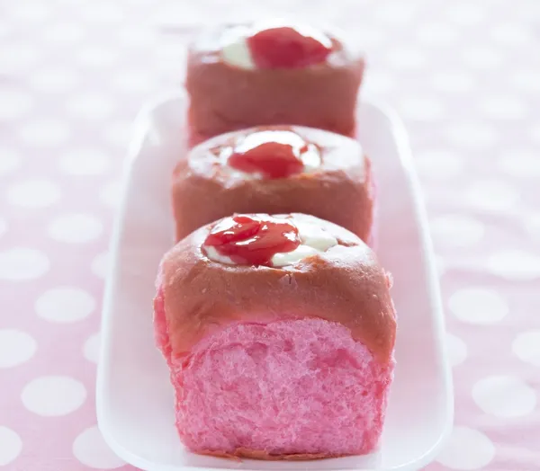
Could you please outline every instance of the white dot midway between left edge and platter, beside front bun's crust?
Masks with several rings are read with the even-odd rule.
[[[41,318],[50,322],[71,323],[91,315],[95,300],[83,289],[60,287],[45,291],[37,299],[35,309]]]

